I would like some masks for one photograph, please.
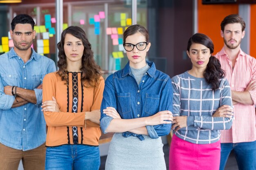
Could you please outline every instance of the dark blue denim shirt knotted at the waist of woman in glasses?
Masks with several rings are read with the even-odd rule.
[[[103,100],[101,102],[100,125],[104,133],[112,117],[103,113],[103,109],[114,107],[122,119],[135,119],[155,115],[159,111],[173,111],[173,89],[168,75],[156,70],[153,62],[142,77],[139,85],[132,75],[129,62],[124,69],[110,75],[105,81]],[[146,126],[152,139],[168,135],[171,124]],[[144,140],[142,135],[124,132],[123,137],[135,136]]]

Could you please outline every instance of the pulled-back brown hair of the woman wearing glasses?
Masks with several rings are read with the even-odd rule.
[[[124,43],[126,42],[126,38],[129,35],[133,35],[135,33],[141,33],[142,35],[144,35],[146,42],[149,42],[149,35],[148,35],[148,31],[146,30],[146,28],[144,26],[135,24],[132,26],[129,26],[126,31],[124,31]]]

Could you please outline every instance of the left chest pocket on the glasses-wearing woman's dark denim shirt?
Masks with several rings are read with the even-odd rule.
[[[119,114],[129,113],[131,111],[130,93],[116,93],[116,96],[117,96],[117,112]]]

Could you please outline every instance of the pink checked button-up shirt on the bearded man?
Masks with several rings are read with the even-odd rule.
[[[224,47],[215,55],[225,70],[231,91],[245,91],[247,85],[256,79],[256,59],[245,54],[241,49],[236,58],[234,69],[232,62],[225,53]],[[256,91],[249,91],[254,105],[256,105]],[[240,143],[256,140],[255,106],[249,104],[235,104],[234,120],[230,130],[221,131],[221,143]]]

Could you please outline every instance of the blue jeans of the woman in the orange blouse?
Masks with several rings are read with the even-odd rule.
[[[99,170],[99,146],[61,145],[46,148],[45,170]]]

